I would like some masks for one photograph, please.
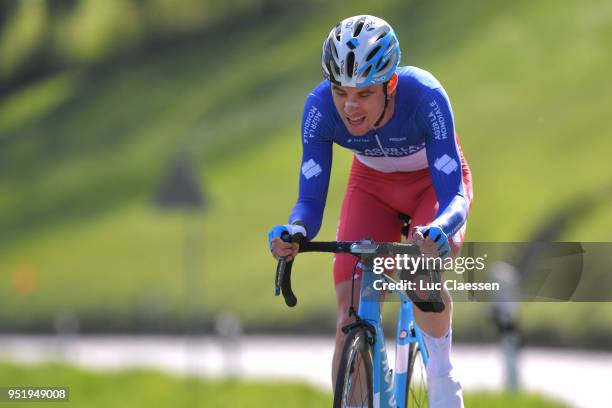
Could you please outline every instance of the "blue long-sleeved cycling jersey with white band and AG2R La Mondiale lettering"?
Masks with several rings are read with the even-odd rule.
[[[355,153],[364,165],[383,173],[429,167],[440,204],[433,224],[451,237],[465,223],[468,203],[450,101],[429,72],[397,69],[395,111],[376,131],[352,136],[324,80],[306,99],[302,117],[302,166],[299,196],[289,222],[302,221],[309,239],[321,227],[332,166],[333,143]]]

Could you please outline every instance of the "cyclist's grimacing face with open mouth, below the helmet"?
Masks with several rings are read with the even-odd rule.
[[[363,88],[332,85],[332,95],[338,114],[353,136],[370,131],[385,106],[382,84]]]

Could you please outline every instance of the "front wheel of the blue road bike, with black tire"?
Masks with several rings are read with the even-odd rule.
[[[353,389],[355,380],[357,387],[365,387],[365,390]],[[373,408],[372,346],[364,328],[353,328],[346,335],[334,391],[334,408]]]

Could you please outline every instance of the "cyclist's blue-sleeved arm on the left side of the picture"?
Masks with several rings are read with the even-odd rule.
[[[308,96],[302,116],[302,164],[299,195],[290,223],[302,222],[307,238],[313,239],[321,228],[332,165],[333,123],[321,100]]]

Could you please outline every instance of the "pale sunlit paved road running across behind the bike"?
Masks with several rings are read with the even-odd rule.
[[[145,367],[172,374],[294,379],[331,390],[332,339],[249,336],[237,341],[180,336],[0,336],[0,359],[22,363],[63,360],[94,370]],[[388,348],[392,351],[392,348]],[[453,345],[465,389],[500,389],[497,347]],[[390,361],[394,361],[390,353]],[[572,406],[612,406],[612,353],[527,348],[520,357],[524,388]]]

